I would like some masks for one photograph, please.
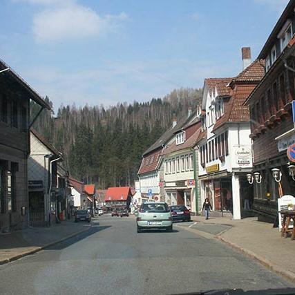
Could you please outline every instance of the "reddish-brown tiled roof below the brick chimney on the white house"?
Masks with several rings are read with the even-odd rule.
[[[264,73],[264,63],[256,59],[231,80],[231,97],[225,102],[225,113],[216,121],[213,131],[225,123],[249,121],[249,106],[245,106],[244,103]],[[236,86],[237,82],[239,85]]]

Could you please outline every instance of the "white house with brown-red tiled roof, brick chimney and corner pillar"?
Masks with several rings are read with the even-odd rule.
[[[263,61],[251,63],[250,48],[242,48],[242,61],[236,77],[204,80],[198,140],[202,202],[209,198],[213,211],[234,219],[253,198],[247,182],[252,167],[249,107],[243,104],[264,73]]]

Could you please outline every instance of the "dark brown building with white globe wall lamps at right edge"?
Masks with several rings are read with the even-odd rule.
[[[274,222],[277,200],[294,196],[294,162],[287,149],[295,143],[292,101],[295,99],[295,1],[289,1],[267,38],[258,59],[265,60],[265,75],[247,99],[251,117],[254,167],[254,210],[261,220]]]

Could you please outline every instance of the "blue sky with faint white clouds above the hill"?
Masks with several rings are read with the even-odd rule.
[[[254,60],[287,0],[0,0],[0,58],[55,110],[146,102]]]

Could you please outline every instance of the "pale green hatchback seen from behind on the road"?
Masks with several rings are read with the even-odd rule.
[[[142,229],[166,229],[173,231],[171,211],[165,202],[145,202],[136,218],[137,233]]]

